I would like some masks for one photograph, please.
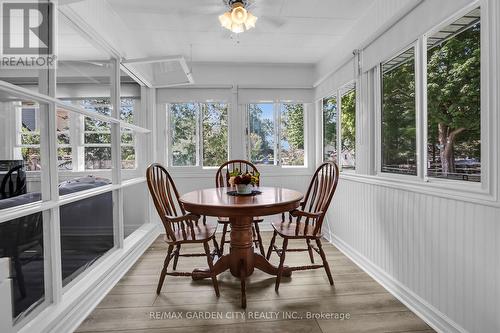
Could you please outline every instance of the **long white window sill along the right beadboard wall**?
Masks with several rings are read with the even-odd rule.
[[[427,194],[431,196],[454,199],[485,206],[500,207],[498,197],[490,193],[481,183],[470,183],[459,181],[449,183],[446,180],[422,181],[416,176],[397,175],[392,177],[385,174],[380,175],[360,175],[355,173],[341,173],[340,179],[354,182],[361,182],[372,185],[390,187],[415,193]]]

